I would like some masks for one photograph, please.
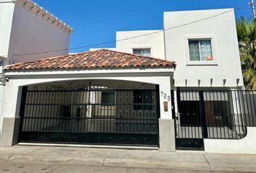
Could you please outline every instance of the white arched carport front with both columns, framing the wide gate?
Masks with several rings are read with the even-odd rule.
[[[51,82],[63,82],[63,81],[90,81],[100,80],[107,81],[111,84],[115,84],[116,81],[124,81],[127,84],[129,82],[142,82],[145,84],[157,84],[159,86],[159,92],[165,95],[171,95],[170,81],[173,78],[174,67],[156,67],[156,68],[103,68],[103,69],[74,69],[74,70],[48,70],[48,71],[7,71],[6,75],[10,78],[7,82],[7,89],[4,94],[8,99],[4,99],[4,111],[0,120],[1,131],[5,133],[1,134],[2,146],[12,146],[13,143],[17,143],[17,132],[15,130],[15,123],[6,127],[4,120],[15,120],[20,118],[20,106],[22,97],[22,86],[30,86],[34,84],[51,84]],[[133,85],[133,84],[132,84]],[[160,96],[160,119],[168,120],[174,124],[171,115],[171,99]],[[164,109],[163,102],[168,103],[167,111]],[[160,125],[161,126],[161,125]],[[169,129],[160,130],[160,149],[162,151],[174,151],[175,144],[172,138],[168,138],[170,143],[166,143],[167,136],[174,136],[174,128],[168,125]],[[163,128],[163,127],[161,127]],[[168,133],[166,133],[168,132]]]

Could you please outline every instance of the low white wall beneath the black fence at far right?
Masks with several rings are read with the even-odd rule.
[[[242,139],[204,139],[205,152],[256,154],[256,128],[247,128],[247,136]]]

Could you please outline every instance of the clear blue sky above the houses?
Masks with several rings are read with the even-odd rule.
[[[249,0],[34,0],[74,28],[70,48],[116,39],[118,30],[163,28],[163,12],[234,8]],[[249,6],[236,10],[236,18],[251,17]],[[115,47],[115,43],[101,48]],[[81,52],[83,48],[71,50]]]

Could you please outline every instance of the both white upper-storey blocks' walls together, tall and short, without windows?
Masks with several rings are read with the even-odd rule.
[[[189,24],[191,22],[194,23]],[[116,32],[116,40],[157,32],[117,42],[116,50],[132,53],[133,48],[150,48],[152,57],[175,61],[177,63],[174,72],[176,87],[244,85],[234,10],[165,12],[163,24],[162,32],[161,30],[160,32],[157,32],[158,30]],[[189,61],[188,40],[190,39],[210,39],[213,61]],[[237,81],[239,81],[238,84]]]

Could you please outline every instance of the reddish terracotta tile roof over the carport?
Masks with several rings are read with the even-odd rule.
[[[6,66],[7,70],[29,69],[70,69],[70,68],[116,68],[116,67],[147,67],[147,66],[176,66],[174,61],[159,58],[137,56],[114,50],[93,50],[69,56],[44,58],[27,63],[14,63]]]

